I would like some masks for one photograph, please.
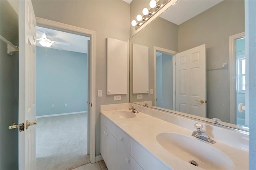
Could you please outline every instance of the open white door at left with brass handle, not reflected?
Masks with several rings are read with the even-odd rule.
[[[30,0],[19,1],[19,169],[36,169],[36,18]]]

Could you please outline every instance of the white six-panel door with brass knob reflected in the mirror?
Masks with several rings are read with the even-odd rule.
[[[176,111],[206,117],[206,45],[177,53],[175,60]]]

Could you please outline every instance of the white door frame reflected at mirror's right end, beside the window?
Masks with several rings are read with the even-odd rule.
[[[229,36],[229,120],[230,123],[236,124],[236,39],[245,36],[241,32]],[[232,78],[233,77],[233,78]]]

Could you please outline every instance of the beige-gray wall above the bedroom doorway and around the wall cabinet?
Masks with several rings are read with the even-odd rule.
[[[96,156],[100,155],[100,105],[128,103],[129,93],[114,101],[106,93],[106,38],[128,41],[130,38],[130,5],[122,0],[32,1],[35,15],[96,32]]]

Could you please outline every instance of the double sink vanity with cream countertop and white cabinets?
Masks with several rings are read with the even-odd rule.
[[[100,152],[109,170],[248,169],[248,134],[131,103],[102,105]],[[136,112],[135,111],[135,112]],[[201,127],[200,127],[201,128]]]

